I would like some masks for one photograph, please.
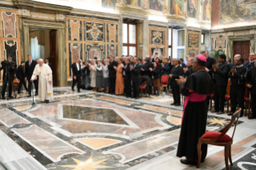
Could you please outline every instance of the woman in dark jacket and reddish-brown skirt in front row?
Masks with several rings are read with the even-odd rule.
[[[159,89],[160,89],[160,78],[161,78],[161,66],[158,62],[154,63],[154,68],[149,68],[150,71],[152,71],[152,79],[153,79],[153,86],[154,91],[153,93],[156,95],[159,95]]]

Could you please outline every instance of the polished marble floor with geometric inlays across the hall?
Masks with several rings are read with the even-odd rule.
[[[170,105],[171,95],[131,99],[71,87],[54,94],[49,104],[35,97],[33,105],[25,92],[0,100],[0,170],[196,169],[176,157],[183,109]],[[209,111],[207,129],[229,122]],[[239,119],[232,159],[230,169],[256,169],[256,119]],[[209,145],[201,169],[226,169],[223,148]]]

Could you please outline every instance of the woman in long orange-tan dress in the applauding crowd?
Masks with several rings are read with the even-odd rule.
[[[123,78],[123,68],[124,65],[119,58],[116,59],[118,63],[117,67],[114,67],[116,70],[116,95],[124,94],[124,78]]]

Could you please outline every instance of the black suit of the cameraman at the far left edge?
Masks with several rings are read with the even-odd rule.
[[[2,67],[0,67],[0,71],[2,71]],[[9,78],[6,77],[5,75],[8,75],[8,71],[7,71],[7,74],[6,74],[6,69],[3,70],[3,78],[2,78],[2,82],[3,82],[3,86],[2,86],[2,96],[4,97],[5,96],[5,93],[6,93],[6,87],[7,87],[7,82],[9,83],[9,97],[11,97],[11,94],[12,94],[12,85],[13,85],[13,81],[14,81],[14,74],[16,73],[17,71],[17,65],[16,63],[14,63],[14,68],[10,67],[10,74],[9,74]]]

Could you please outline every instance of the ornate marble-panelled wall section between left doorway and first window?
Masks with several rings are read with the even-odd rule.
[[[75,58],[87,61],[95,57],[105,59],[108,55],[118,55],[119,22],[75,17],[67,17],[67,22],[68,78],[71,78],[71,64],[75,63]]]

